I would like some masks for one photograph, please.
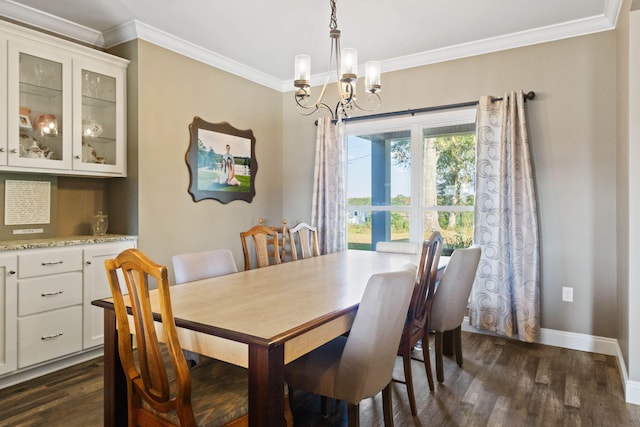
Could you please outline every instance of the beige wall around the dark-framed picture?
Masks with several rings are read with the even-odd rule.
[[[153,44],[137,41],[137,180],[139,247],[158,263],[188,251],[230,248],[242,267],[239,232],[264,217],[282,220],[281,94]],[[130,52],[133,51],[130,47]],[[134,107],[135,108],[135,107]],[[132,112],[129,112],[131,117]],[[195,203],[187,189],[185,153],[194,116],[251,129],[256,138],[252,203]]]

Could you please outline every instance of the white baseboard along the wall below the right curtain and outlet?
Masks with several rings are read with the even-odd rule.
[[[462,322],[462,330],[476,334],[504,337],[503,335],[498,335],[490,331],[474,328],[469,324],[468,317],[465,317]],[[627,367],[624,363],[622,351],[620,350],[620,345],[618,344],[617,339],[542,328],[540,329],[540,339],[538,340],[538,343],[554,347],[568,348],[570,350],[587,351],[590,353],[615,356],[618,361],[618,370],[620,372],[620,378],[622,379],[626,402],[640,405],[640,382],[629,380]]]

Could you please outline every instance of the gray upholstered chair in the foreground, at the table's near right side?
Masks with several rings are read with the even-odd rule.
[[[414,281],[415,268],[371,276],[349,336],[286,365],[287,383],[347,401],[349,426],[358,425],[360,401],[382,391],[385,426],[392,426],[391,376]]]

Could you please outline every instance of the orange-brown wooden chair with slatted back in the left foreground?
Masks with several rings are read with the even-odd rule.
[[[167,268],[137,249],[106,260],[105,267],[127,382],[129,425],[248,425],[246,369],[212,359],[192,370],[187,367],[171,308]],[[122,293],[119,272],[128,295]],[[149,297],[152,283],[158,287],[156,310],[162,316],[165,345],[155,328]],[[130,302],[131,323],[125,301]],[[133,337],[137,350],[133,350]]]

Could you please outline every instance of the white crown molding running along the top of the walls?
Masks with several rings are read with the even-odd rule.
[[[607,0],[603,14],[590,18],[388,59],[382,62],[382,70],[385,73],[399,71],[612,30],[616,27],[622,2],[623,0]],[[283,81],[277,79],[255,68],[248,67],[226,56],[179,39],[139,21],[131,21],[101,33],[37,9],[15,3],[12,0],[0,0],[0,16],[102,49],[139,38],[283,93],[293,90],[294,87],[293,80]],[[327,81],[327,73],[314,74],[311,79],[314,82]],[[329,76],[328,81],[335,81],[335,77]]]

